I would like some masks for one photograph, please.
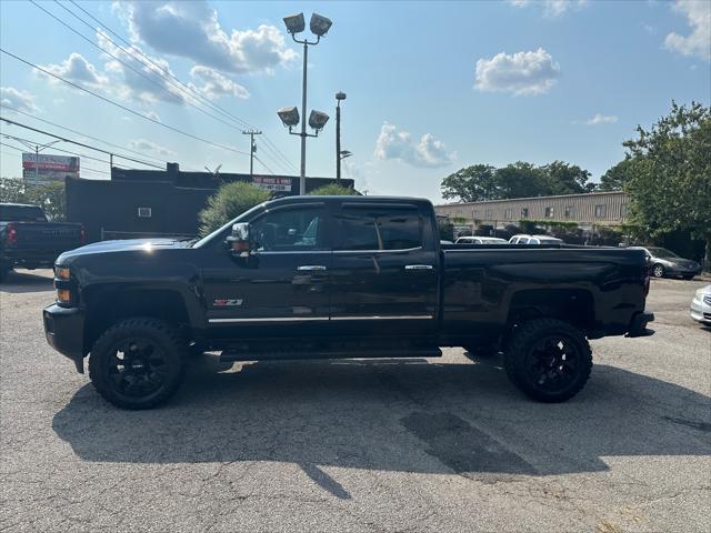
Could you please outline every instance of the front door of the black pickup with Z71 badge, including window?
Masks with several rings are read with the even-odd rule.
[[[250,221],[249,261],[216,250],[204,271],[208,325],[216,336],[318,334],[329,320],[331,252],[321,202],[268,210]]]

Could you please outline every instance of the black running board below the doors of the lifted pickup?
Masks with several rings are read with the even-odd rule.
[[[408,348],[397,350],[326,350],[326,351],[252,351],[234,352],[226,350],[220,354],[220,362],[231,363],[236,361],[293,361],[308,359],[407,359],[407,358],[441,358],[442,351],[439,348]]]

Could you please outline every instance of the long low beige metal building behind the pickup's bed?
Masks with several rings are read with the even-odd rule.
[[[628,195],[621,191],[517,198],[437,205],[440,217],[462,224],[504,227],[520,220],[575,222],[582,229],[627,222]]]

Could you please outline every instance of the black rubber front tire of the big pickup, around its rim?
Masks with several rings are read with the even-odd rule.
[[[116,369],[113,372],[111,369],[116,366],[117,350],[122,343],[132,339],[151,343],[160,350],[164,360],[164,366],[161,366],[166,374],[162,383],[156,391],[140,396],[121,393],[111,378],[111,375],[116,378],[117,374]],[[178,330],[170,324],[150,318],[128,319],[109,328],[94,343],[89,356],[89,378],[97,392],[113,405],[131,410],[151,409],[166,402],[176,393],[184,378],[188,356],[188,345]]]

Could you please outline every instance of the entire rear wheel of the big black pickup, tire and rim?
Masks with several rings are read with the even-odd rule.
[[[540,402],[564,402],[584,386],[592,370],[588,340],[575,326],[535,319],[518,326],[504,355],[507,375]]]

